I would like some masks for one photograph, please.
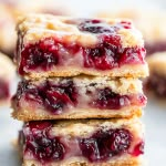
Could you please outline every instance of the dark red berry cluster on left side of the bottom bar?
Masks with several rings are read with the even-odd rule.
[[[51,122],[30,122],[23,131],[25,135],[24,153],[31,153],[41,163],[61,160],[65,147],[60,137],[51,136]]]

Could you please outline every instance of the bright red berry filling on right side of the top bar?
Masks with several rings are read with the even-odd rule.
[[[144,63],[144,48],[122,48],[120,37],[105,35],[103,42],[95,48],[83,50],[84,66],[98,70],[110,70],[124,64]]]

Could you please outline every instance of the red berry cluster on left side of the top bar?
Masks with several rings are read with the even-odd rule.
[[[27,45],[21,52],[21,73],[25,70],[49,70],[51,66],[59,63],[59,44],[55,44],[52,39],[42,40],[34,44]]]

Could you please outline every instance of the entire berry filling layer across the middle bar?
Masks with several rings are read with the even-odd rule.
[[[145,106],[144,94],[122,95],[113,92],[110,87],[100,89],[96,83],[79,86],[72,77],[61,79],[58,82],[46,80],[41,83],[22,81],[19,83],[18,92],[13,101],[21,110],[22,102],[25,102],[25,110],[44,110],[53,115],[70,112],[73,107],[120,110],[125,106]],[[23,101],[22,101],[23,100]],[[97,110],[96,110],[97,111]]]

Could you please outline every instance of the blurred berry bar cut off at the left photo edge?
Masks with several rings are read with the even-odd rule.
[[[0,52],[0,105],[9,102],[11,84],[15,75],[15,68],[11,60]]]

